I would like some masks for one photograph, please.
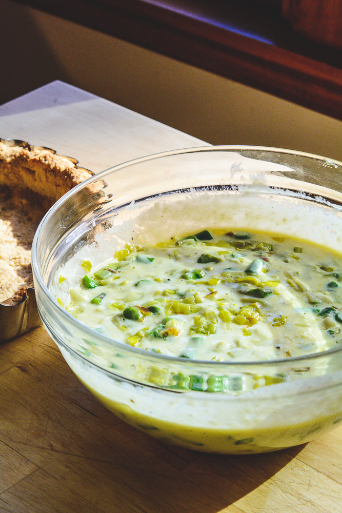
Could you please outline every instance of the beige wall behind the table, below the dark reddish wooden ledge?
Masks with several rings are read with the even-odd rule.
[[[212,144],[342,160],[342,123],[328,116],[8,0],[0,12],[0,103],[59,78]]]

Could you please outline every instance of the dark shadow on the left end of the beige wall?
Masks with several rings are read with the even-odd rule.
[[[69,82],[70,77],[58,65],[37,30],[30,10],[7,0],[0,0],[0,11],[3,71],[0,105],[57,78]]]

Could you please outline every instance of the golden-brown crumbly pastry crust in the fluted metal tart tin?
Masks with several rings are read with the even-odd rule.
[[[33,287],[31,245],[39,222],[53,203],[91,175],[53,151],[0,142],[0,303],[25,299]]]

